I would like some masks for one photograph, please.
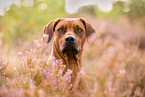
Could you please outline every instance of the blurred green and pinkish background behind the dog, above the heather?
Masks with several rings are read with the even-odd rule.
[[[17,64],[52,19],[84,17],[99,38],[111,37],[145,48],[144,0],[0,0],[0,57]]]

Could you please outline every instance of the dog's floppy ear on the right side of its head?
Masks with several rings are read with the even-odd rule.
[[[80,21],[85,26],[85,29],[86,29],[86,37],[89,37],[91,34],[95,33],[95,29],[85,19],[80,18]]]

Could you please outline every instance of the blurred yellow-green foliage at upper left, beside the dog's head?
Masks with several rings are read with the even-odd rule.
[[[23,1],[19,6],[12,4],[0,17],[4,43],[32,40],[42,35],[42,29],[49,21],[66,14],[64,0],[33,0],[33,3],[33,6],[25,6]]]

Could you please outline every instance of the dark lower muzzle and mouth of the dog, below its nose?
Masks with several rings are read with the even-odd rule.
[[[74,47],[73,44],[66,44],[64,48],[62,49],[61,53],[74,53],[74,54],[79,54],[81,52],[81,49],[77,49]]]

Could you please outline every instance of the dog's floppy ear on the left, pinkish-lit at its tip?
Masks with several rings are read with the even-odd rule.
[[[55,26],[61,19],[52,20],[43,28],[43,41],[49,43],[54,35]]]

